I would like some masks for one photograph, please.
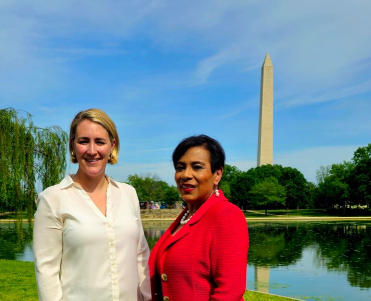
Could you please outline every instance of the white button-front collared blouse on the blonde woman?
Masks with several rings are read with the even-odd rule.
[[[106,215],[70,176],[39,194],[34,256],[41,301],[150,300],[138,197],[108,179]]]

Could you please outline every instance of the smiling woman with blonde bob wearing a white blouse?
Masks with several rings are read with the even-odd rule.
[[[34,256],[42,301],[150,300],[149,248],[138,197],[105,175],[117,163],[119,137],[99,109],[79,112],[70,127],[77,173],[37,199]]]

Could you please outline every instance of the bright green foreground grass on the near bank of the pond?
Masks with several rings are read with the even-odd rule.
[[[35,266],[33,262],[0,259],[0,300],[37,301]],[[290,298],[247,290],[245,300],[289,301]]]

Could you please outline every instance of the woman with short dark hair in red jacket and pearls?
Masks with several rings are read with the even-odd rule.
[[[218,190],[224,150],[209,136],[191,136],[172,161],[188,206],[150,254],[152,301],[242,301],[249,238],[244,214]]]

